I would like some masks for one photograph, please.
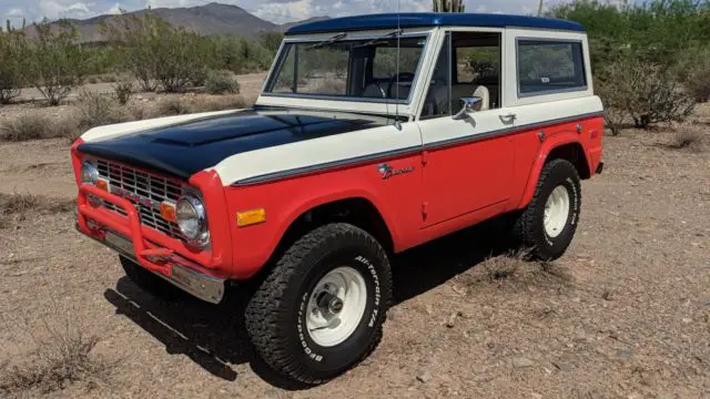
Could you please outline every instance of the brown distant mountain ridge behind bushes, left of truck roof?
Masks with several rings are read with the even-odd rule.
[[[129,14],[143,16],[148,10],[129,12]],[[190,29],[203,35],[213,34],[239,34],[257,37],[262,32],[283,32],[288,28],[310,21],[320,21],[328,17],[315,17],[306,21],[288,22],[283,25],[265,21],[248,11],[232,4],[220,4],[212,2],[205,6],[190,8],[156,8],[151,12],[172,25]],[[85,20],[69,20],[79,30],[80,41],[84,43],[105,41],[106,38],[101,32],[101,24],[111,24],[119,16],[99,16]],[[29,37],[36,33],[34,27],[27,28]]]

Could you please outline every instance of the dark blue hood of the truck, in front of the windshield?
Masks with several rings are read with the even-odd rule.
[[[253,109],[80,144],[82,153],[189,178],[243,152],[385,124],[377,116]]]

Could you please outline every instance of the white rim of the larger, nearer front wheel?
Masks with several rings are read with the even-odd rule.
[[[363,275],[349,266],[331,270],[315,285],[308,299],[308,336],[322,347],[343,342],[359,325],[366,306],[367,286]]]

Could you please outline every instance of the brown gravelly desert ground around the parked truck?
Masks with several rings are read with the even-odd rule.
[[[704,147],[670,147],[683,130]],[[709,399],[708,139],[708,104],[607,136],[552,264],[501,254],[486,226],[397,256],[382,344],[314,388],[254,355],[246,289],[160,301],[74,231],[67,140],[0,142],[0,193],[49,197],[0,209],[0,397]]]

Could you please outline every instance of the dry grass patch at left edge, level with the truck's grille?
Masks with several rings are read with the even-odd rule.
[[[73,211],[75,200],[53,198],[34,194],[0,193],[0,228],[23,221],[28,215],[53,215]]]

